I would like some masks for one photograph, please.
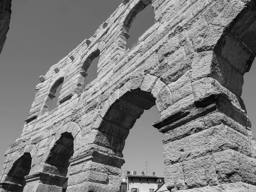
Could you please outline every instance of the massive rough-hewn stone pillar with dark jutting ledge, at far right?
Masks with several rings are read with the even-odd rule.
[[[256,191],[256,141],[241,98],[208,77],[172,85],[172,93],[190,94],[154,123],[163,133],[168,189]]]

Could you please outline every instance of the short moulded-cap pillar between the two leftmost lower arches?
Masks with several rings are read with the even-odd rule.
[[[25,177],[26,186],[23,192],[62,192],[64,183],[67,182],[67,177],[52,175],[44,172],[39,172],[34,175]]]

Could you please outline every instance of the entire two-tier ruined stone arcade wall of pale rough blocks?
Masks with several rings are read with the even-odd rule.
[[[146,6],[155,24],[126,49]],[[255,192],[256,140],[241,99],[255,55],[255,0],[123,0],[40,77],[0,192],[61,192],[67,179],[67,192],[118,192],[125,139],[154,105],[170,191]],[[98,56],[97,78],[84,86]]]

